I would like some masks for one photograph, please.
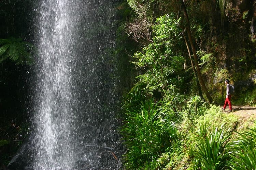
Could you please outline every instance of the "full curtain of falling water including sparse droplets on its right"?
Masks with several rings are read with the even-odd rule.
[[[38,55],[25,169],[118,169],[112,2],[40,0],[34,11]]]

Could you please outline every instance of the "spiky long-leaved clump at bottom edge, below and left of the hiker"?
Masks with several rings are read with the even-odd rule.
[[[230,143],[231,132],[222,125],[210,130],[211,126],[200,125],[195,133],[197,153],[194,155],[195,169],[218,170],[228,167],[229,154],[226,149]]]

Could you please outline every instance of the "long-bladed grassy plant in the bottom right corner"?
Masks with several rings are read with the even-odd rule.
[[[232,169],[256,169],[256,129],[238,133],[240,140],[234,141],[230,156]]]

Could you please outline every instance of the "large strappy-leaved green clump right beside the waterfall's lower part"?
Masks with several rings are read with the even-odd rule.
[[[179,141],[174,125],[161,117],[154,100],[147,99],[141,108],[126,113],[122,127],[126,169],[155,169],[155,162],[168,147],[175,147]]]

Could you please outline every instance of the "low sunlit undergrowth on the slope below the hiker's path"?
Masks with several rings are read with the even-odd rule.
[[[174,113],[164,102],[135,91],[136,95],[131,93],[131,100],[124,103],[132,107],[123,107],[126,169],[241,169],[244,159],[254,158],[255,130],[236,132],[237,116],[223,113],[219,106],[208,105],[198,96],[189,98]],[[139,103],[138,98],[143,102]],[[175,122],[171,121],[174,115]],[[251,155],[245,154],[246,149],[251,149],[246,152]],[[248,163],[252,169],[254,162]]]

